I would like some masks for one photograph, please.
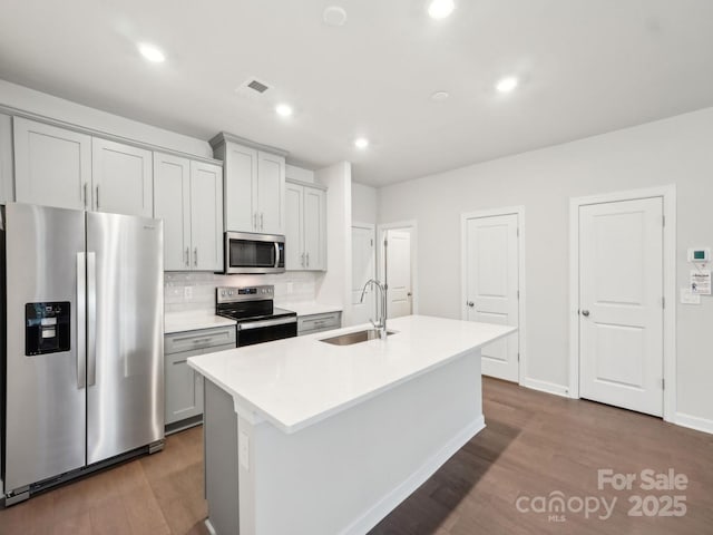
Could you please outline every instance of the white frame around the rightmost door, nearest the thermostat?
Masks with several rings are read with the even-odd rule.
[[[579,207],[661,197],[663,200],[663,419],[674,421],[676,412],[676,186],[651,187],[569,198],[569,391],[579,398]]]

